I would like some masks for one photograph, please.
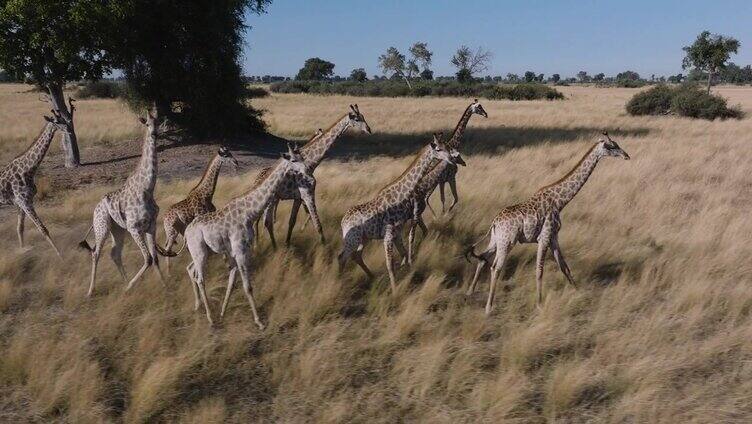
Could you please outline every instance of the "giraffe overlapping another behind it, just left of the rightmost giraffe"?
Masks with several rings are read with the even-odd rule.
[[[405,221],[413,217],[413,191],[434,160],[452,163],[454,157],[455,151],[441,141],[440,134],[434,134],[433,140],[418,152],[413,163],[396,180],[381,189],[375,199],[348,209],[341,224],[343,246],[338,257],[340,269],[348,259],[353,258],[366,275],[373,278],[363,262],[363,248],[368,240],[383,239],[389,281],[392,293],[396,293],[393,249],[396,246],[399,253],[406,257],[401,229]]]

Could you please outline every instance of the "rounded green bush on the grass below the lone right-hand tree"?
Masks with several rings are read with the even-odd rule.
[[[701,119],[741,119],[743,113],[738,108],[728,107],[726,99],[708,94],[695,84],[683,84],[677,87],[659,85],[635,94],[627,102],[630,115],[665,115],[675,113],[679,116]]]

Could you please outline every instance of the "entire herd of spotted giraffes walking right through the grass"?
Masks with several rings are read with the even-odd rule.
[[[369,278],[372,278],[373,273],[363,261],[363,249],[370,240],[382,240],[391,291],[393,294],[397,292],[397,261],[394,251],[396,249],[402,257],[400,265],[412,265],[416,228],[420,228],[424,236],[428,232],[422,215],[426,207],[431,208],[428,199],[433,191],[439,188],[442,213],[447,211],[445,184],[449,184],[453,196],[448,210],[451,211],[459,201],[456,175],[458,165],[466,165],[460,154],[461,141],[470,118],[476,114],[488,117],[477,99],[465,109],[451,137],[444,141],[442,133],[433,134],[431,141],[418,151],[413,162],[399,177],[385,185],[370,201],[353,206],[344,213],[341,221],[342,248],[337,257],[340,269],[352,259]],[[66,131],[67,126],[62,117],[54,111],[53,116],[45,116],[45,120],[46,124],[36,141],[0,172],[0,206],[16,207],[18,241],[21,247],[24,219],[28,217],[59,256],[60,251],[34,210],[34,175],[50,147],[55,132]],[[166,237],[164,248],[156,241],[159,206],[154,199],[154,188],[157,183],[157,140],[164,133],[165,124],[160,124],[156,112],[152,111],[147,111],[141,122],[146,128],[146,134],[136,169],[120,189],[106,194],[97,203],[92,224],[79,243],[79,247],[87,250],[91,256],[91,278],[87,296],[94,293],[97,264],[108,235],[112,240],[110,256],[123,280],[127,282],[126,291],[131,289],[152,266],[164,283],[159,256],[167,259],[169,272],[169,258],[179,255],[187,247],[191,261],[186,270],[192,282],[195,309],[199,310],[203,304],[206,318],[209,324],[213,325],[214,319],[205,289],[206,266],[210,255],[220,254],[224,256],[229,268],[220,320],[224,316],[236,275],[239,273],[253,319],[256,325],[263,329],[264,324],[259,317],[251,286],[252,251],[254,242],[260,236],[258,223],[263,218],[270,242],[276,248],[274,221],[277,206],[280,201],[292,200],[286,244],[290,244],[301,206],[313,223],[321,243],[326,242],[315,200],[317,181],[313,173],[327,151],[345,131],[353,129],[371,134],[371,128],[358,105],[350,105],[349,111],[342,118],[325,131],[319,129],[304,146],[288,144],[287,152],[282,153],[273,166],[262,169],[247,192],[217,209],[212,203],[212,198],[220,169],[224,164],[232,164],[235,168],[238,166],[230,150],[221,147],[186,198],[167,209],[163,218]],[[478,261],[473,279],[467,288],[467,295],[474,292],[486,265],[490,266],[486,314],[492,311],[498,273],[517,243],[537,243],[536,304],[539,307],[543,299],[543,265],[549,249],[567,281],[575,285],[559,246],[561,211],[582,188],[599,160],[604,157],[629,159],[629,155],[605,131],[603,138],[590,148],[567,175],[539,189],[529,200],[501,209],[486,234],[465,250],[465,258],[468,261],[470,258]],[[436,215],[432,208],[431,212]],[[86,238],[92,230],[94,244],[89,245]],[[407,249],[403,242],[404,230],[408,232]],[[144,260],[141,268],[130,280],[122,262],[126,233],[133,238]],[[173,252],[172,247],[179,237],[182,237],[183,244],[177,252]],[[486,238],[489,239],[488,247],[481,253],[476,253],[475,247]]]

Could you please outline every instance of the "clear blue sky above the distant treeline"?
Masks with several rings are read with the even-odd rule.
[[[370,77],[387,47],[406,53],[415,41],[434,52],[436,75],[454,73],[449,60],[461,44],[494,54],[489,75],[669,75],[682,72],[682,46],[704,29],[736,37],[742,47],[731,60],[752,63],[752,0],[274,0],[247,23],[248,75],[294,76],[318,56],[335,74],[363,67]]]

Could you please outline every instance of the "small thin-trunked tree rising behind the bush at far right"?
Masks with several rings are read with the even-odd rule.
[[[683,48],[686,56],[682,61],[682,68],[695,68],[708,75],[708,94],[713,76],[726,67],[726,62],[732,53],[739,50],[739,40],[733,37],[711,34],[703,31],[691,46]]]

